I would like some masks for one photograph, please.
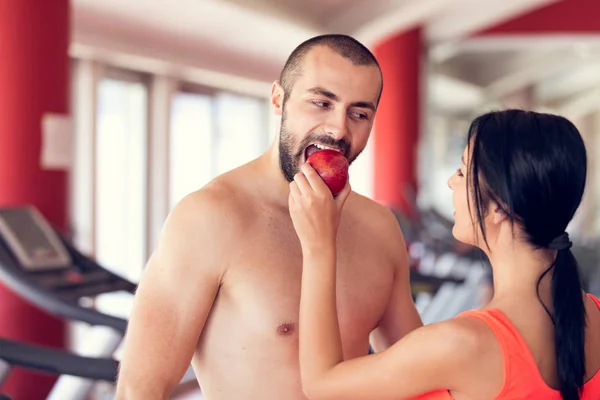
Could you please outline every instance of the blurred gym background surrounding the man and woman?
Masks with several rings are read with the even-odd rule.
[[[266,150],[272,83],[322,33],[352,35],[381,65],[350,182],[397,216],[425,324],[493,290],[482,254],[452,236],[447,185],[470,121],[492,109],[558,113],[583,135],[568,232],[600,296],[597,0],[0,0],[0,343],[29,365],[2,361],[0,393],[114,398],[132,294],[170,210]],[[50,276],[61,262],[78,272]],[[193,373],[173,398],[202,398]]]

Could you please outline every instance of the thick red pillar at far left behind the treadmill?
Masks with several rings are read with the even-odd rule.
[[[0,206],[33,204],[67,225],[67,175],[40,167],[45,113],[67,113],[68,0],[0,0]],[[0,285],[0,336],[65,346],[65,326]],[[1,391],[45,399],[55,379],[14,370]]]

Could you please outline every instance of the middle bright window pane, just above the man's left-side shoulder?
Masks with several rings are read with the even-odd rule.
[[[187,194],[213,177],[211,150],[213,104],[209,95],[177,93],[171,107],[169,138],[169,204],[172,208]]]

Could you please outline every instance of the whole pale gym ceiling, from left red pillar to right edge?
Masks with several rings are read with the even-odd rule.
[[[565,0],[71,1],[78,57],[262,96],[311,36],[348,33],[372,47],[417,25],[429,48],[431,101],[441,112],[460,114],[531,87],[539,101],[573,108],[600,87],[597,38],[574,45],[560,37],[472,37]]]

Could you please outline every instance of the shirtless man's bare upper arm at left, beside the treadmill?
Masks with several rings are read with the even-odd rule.
[[[191,358],[226,267],[231,224],[210,193],[171,212],[135,294],[117,398],[168,398]]]

